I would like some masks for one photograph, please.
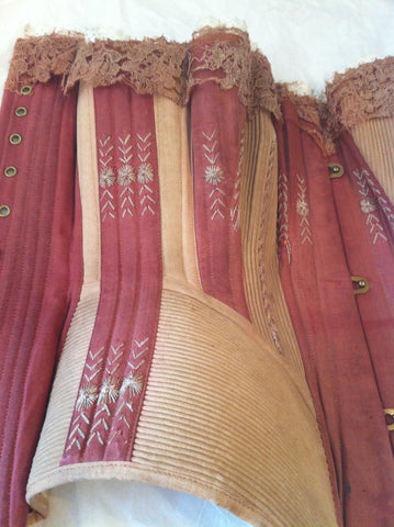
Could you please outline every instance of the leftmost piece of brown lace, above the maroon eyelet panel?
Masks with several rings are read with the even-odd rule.
[[[53,76],[61,76],[65,81],[82,42],[79,34],[19,38],[5,89],[19,93],[22,86],[48,82]]]

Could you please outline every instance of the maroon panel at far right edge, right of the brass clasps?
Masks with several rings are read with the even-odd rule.
[[[350,272],[370,288],[356,298],[383,413],[394,407],[394,206],[349,132],[337,153],[345,173],[333,180],[334,197]]]

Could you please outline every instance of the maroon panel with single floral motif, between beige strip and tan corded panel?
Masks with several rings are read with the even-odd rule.
[[[234,35],[229,35],[232,40]],[[209,45],[201,37],[192,65]],[[237,88],[223,91],[212,76],[222,69],[193,70],[191,97],[194,222],[201,283],[205,293],[249,318],[244,292],[239,192],[246,109]]]

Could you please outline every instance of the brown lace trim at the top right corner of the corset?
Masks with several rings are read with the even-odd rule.
[[[394,116],[394,57],[336,74],[326,87],[329,110],[341,126]]]

